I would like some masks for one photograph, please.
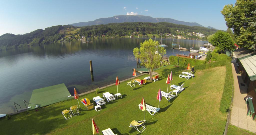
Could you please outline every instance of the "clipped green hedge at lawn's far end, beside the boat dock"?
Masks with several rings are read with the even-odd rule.
[[[205,64],[205,60],[197,60],[197,59],[179,57],[179,64],[178,64],[178,57],[170,56],[169,63],[171,65],[179,65],[181,67],[186,67],[186,66],[188,66],[188,63],[190,63],[191,66]]]

